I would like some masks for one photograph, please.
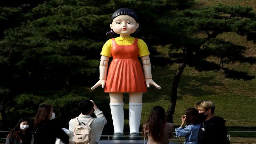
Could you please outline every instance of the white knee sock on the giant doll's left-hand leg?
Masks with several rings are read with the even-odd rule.
[[[124,133],[124,103],[109,103],[114,131]]]

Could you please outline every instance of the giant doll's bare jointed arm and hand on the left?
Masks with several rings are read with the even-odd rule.
[[[103,88],[106,84],[107,71],[108,71],[108,61],[109,57],[102,55],[100,58],[100,80],[92,86],[92,90],[100,86]]]

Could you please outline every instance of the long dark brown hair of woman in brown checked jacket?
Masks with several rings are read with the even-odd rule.
[[[146,130],[148,130],[153,140],[160,141],[164,137],[164,127],[166,124],[164,108],[161,106],[152,108],[148,121],[145,124]],[[143,135],[144,133],[143,129]]]

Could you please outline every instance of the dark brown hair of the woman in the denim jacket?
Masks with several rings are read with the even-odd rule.
[[[196,108],[188,108],[186,109],[186,124],[199,124],[198,111]]]

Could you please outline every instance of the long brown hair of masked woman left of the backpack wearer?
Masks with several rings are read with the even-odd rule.
[[[39,107],[36,113],[34,126],[38,127],[40,125],[45,125],[50,120],[49,115],[51,111],[52,111],[51,105],[43,104],[41,107]]]

